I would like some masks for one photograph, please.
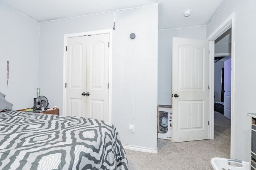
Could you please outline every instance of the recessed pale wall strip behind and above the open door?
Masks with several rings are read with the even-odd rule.
[[[171,105],[172,37],[206,40],[206,27],[159,30],[158,36],[158,104]]]

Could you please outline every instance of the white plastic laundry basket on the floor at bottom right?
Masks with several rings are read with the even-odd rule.
[[[249,162],[226,158],[212,158],[211,164],[214,170],[249,170],[250,167]]]

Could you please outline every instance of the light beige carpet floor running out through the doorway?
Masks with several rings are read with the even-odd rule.
[[[158,139],[158,154],[125,151],[130,170],[212,170],[212,158],[230,158],[230,120],[214,113],[214,140],[172,143]]]

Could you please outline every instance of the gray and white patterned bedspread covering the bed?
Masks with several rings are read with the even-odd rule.
[[[0,169],[127,170],[116,128],[62,115],[0,113]]]

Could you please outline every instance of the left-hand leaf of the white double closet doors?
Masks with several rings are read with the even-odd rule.
[[[86,112],[87,37],[68,38],[66,63],[66,115],[84,117]]]

